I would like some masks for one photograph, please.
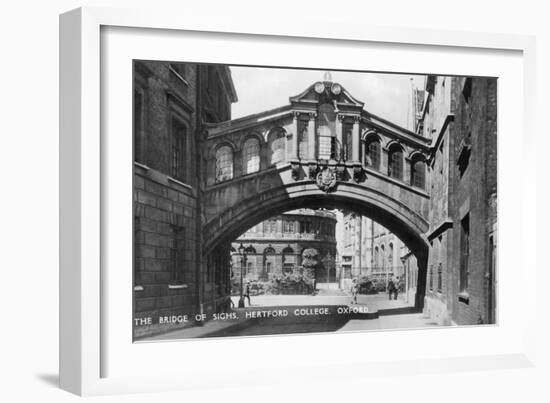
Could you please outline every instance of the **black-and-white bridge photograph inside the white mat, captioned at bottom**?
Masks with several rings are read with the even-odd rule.
[[[134,341],[497,323],[497,78],[133,61]]]

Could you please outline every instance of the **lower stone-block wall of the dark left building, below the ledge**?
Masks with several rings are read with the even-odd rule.
[[[136,165],[136,318],[151,317],[152,324],[156,325],[160,316],[196,313],[196,268],[199,264],[196,209],[197,199],[191,188],[158,171]],[[136,329],[136,337],[154,331],[155,326],[140,326]]]

